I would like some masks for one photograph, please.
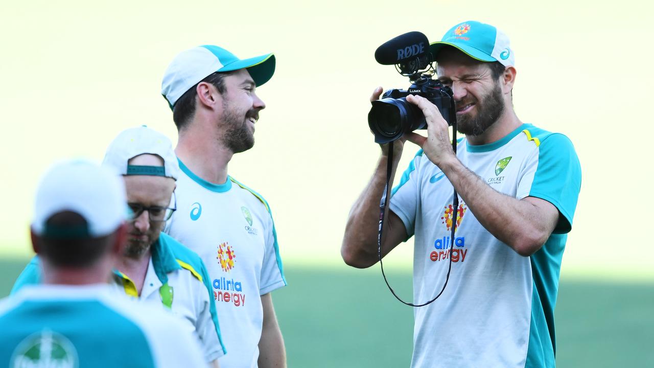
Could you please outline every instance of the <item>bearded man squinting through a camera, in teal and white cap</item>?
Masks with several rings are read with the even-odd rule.
[[[430,51],[466,138],[455,155],[438,108],[406,98],[424,114],[427,136],[409,132],[393,144],[393,174],[405,140],[421,150],[392,191],[381,255],[415,235],[416,304],[438,294],[452,262],[441,297],[415,309],[411,366],[554,367],[560,262],[581,185],[574,147],[515,115],[516,69],[504,33],[464,22]],[[377,88],[372,100],[380,94]],[[384,146],[349,215],[341,254],[353,267],[377,262],[387,163]]]

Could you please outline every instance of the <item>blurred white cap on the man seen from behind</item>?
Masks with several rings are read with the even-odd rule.
[[[114,232],[127,219],[127,196],[122,178],[86,160],[54,164],[37,189],[32,230],[52,235],[46,225],[56,213],[70,211],[84,217],[91,238]]]

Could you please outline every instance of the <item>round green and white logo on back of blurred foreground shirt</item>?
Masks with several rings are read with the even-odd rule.
[[[77,368],[77,350],[70,340],[48,329],[29,335],[14,350],[11,368]]]

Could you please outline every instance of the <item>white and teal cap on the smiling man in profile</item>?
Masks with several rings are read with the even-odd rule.
[[[182,51],[163,73],[162,95],[171,109],[179,98],[216,71],[247,69],[256,86],[261,86],[275,73],[275,55],[265,54],[239,59],[232,52],[214,45],[204,45]]]

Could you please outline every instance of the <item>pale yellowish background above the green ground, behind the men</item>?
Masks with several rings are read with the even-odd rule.
[[[0,257],[28,255],[37,180],[54,161],[101,160],[122,129],[176,140],[160,96],[177,52],[216,44],[275,52],[258,90],[256,145],[230,166],[270,202],[286,263],[340,263],[345,218],[371,174],[375,86],[406,88],[373,52],[418,30],[436,41],[463,20],[495,24],[517,60],[519,117],[574,142],[583,187],[563,273],[652,280],[649,179],[651,5],[591,1],[15,1],[1,5]],[[400,6],[401,5],[401,6]],[[645,9],[647,8],[647,9]],[[407,146],[408,147],[408,146]],[[402,167],[413,156],[408,147]],[[407,267],[411,247],[391,263]]]

